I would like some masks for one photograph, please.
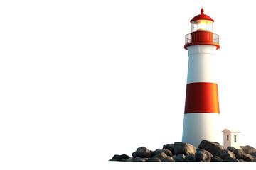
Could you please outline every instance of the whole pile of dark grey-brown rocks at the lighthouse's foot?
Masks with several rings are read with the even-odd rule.
[[[202,140],[198,149],[191,144],[175,142],[166,144],[163,149],[151,151],[146,147],[139,147],[132,153],[115,154],[110,161],[122,162],[256,162],[256,149],[249,145],[235,149],[223,149],[217,142]]]

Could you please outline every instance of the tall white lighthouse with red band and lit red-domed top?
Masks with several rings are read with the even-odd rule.
[[[198,147],[202,140],[219,142],[218,85],[215,77],[215,50],[220,48],[213,33],[214,20],[203,13],[191,20],[191,33],[186,35],[188,79],[182,142]]]

